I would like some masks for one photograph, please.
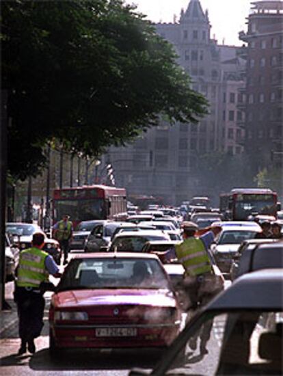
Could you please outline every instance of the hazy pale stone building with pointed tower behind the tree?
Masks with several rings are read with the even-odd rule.
[[[180,204],[208,193],[200,185],[200,174],[205,174],[198,170],[201,155],[217,151],[239,154],[243,150],[237,90],[244,85],[240,72],[244,62],[238,57],[239,47],[219,46],[211,38],[208,12],[199,0],[189,2],[178,23],[159,23],[156,28],[173,44],[178,63],[191,76],[192,88],[208,99],[209,114],[198,125],[169,126],[161,121],[134,144],[111,148],[105,163],[112,163],[116,184],[126,187],[130,196],[144,194]],[[230,92],[234,92],[235,101],[224,103],[224,93],[230,98]],[[233,118],[229,118],[230,111],[234,111]]]

